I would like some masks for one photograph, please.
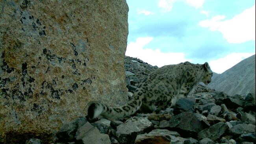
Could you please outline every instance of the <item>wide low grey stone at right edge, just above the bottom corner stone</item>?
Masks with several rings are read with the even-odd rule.
[[[230,128],[229,131],[234,135],[255,133],[255,126],[252,124],[237,124]]]

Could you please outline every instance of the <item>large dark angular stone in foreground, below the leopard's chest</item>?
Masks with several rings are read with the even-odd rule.
[[[169,126],[172,130],[183,133],[182,137],[191,137],[203,129],[202,122],[197,119],[194,113],[175,115],[170,119]]]

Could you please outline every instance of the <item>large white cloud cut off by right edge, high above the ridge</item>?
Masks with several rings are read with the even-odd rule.
[[[224,19],[225,16],[214,16],[211,20],[199,22],[199,25],[210,31],[220,31],[228,43],[255,40],[255,5],[230,20]]]

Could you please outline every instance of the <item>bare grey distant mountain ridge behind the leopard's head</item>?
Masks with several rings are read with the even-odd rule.
[[[209,87],[228,95],[255,94],[255,55],[240,61],[222,74],[213,73]]]

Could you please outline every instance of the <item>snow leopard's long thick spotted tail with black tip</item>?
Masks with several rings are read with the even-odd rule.
[[[139,97],[137,99],[131,99],[123,106],[110,107],[102,103],[92,103],[88,108],[88,117],[90,120],[95,119],[99,115],[107,119],[121,119],[129,115],[134,114],[139,110],[142,100]]]

